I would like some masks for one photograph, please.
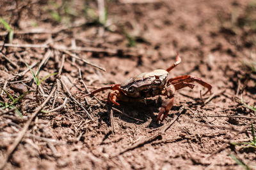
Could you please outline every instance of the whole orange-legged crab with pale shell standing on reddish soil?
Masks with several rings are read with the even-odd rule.
[[[172,109],[175,91],[184,87],[193,89],[195,85],[192,84],[192,82],[196,81],[207,88],[207,91],[203,95],[208,92],[211,93],[212,86],[196,76],[184,75],[168,79],[168,72],[180,64],[180,62],[180,55],[177,53],[175,63],[167,69],[156,69],[151,72],[141,73],[138,76],[129,78],[124,83],[100,87],[81,97],[93,96],[102,90],[111,89],[113,91],[108,94],[108,103],[113,103],[119,106],[120,104],[117,101],[134,102],[157,95],[166,96],[167,99],[163,101],[156,118],[156,122],[158,122],[163,115],[161,120],[161,122],[163,122],[169,111]]]

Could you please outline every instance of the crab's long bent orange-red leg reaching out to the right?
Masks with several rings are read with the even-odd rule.
[[[168,80],[168,83],[172,83],[173,85],[175,85],[175,84],[180,83],[180,82],[191,83],[193,81],[196,81],[197,83],[199,83],[200,85],[202,85],[202,86],[204,86],[208,89],[207,92],[205,92],[203,95],[207,94],[208,92],[211,93],[212,86],[209,83],[206,83],[205,81],[201,80],[200,78],[195,77],[195,76],[191,76],[191,75],[184,75],[184,76],[179,76],[179,77],[176,77],[176,78],[170,78]]]

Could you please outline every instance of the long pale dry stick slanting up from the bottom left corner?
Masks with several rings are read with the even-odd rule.
[[[51,96],[52,96],[52,94],[54,93],[55,90],[56,90],[56,86],[53,87],[51,93],[49,94],[47,99],[45,99],[44,103],[42,103],[40,106],[38,106],[38,108],[36,108],[36,110],[31,114],[31,117],[29,118],[28,122],[26,122],[26,124],[24,125],[22,130],[19,132],[19,136],[17,136],[17,138],[15,139],[13,144],[8,148],[7,153],[6,153],[6,157],[3,160],[3,162],[0,164],[0,169],[4,169],[4,167],[6,166],[6,163],[10,159],[10,156],[12,155],[13,151],[15,150],[15,148],[17,148],[17,146],[19,145],[22,138],[24,138],[24,135],[28,131],[28,127],[31,124],[32,120],[44,108],[45,104],[51,99]]]

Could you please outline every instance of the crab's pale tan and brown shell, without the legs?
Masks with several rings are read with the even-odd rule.
[[[129,78],[121,84],[120,88],[130,97],[156,96],[163,90],[167,76],[168,72],[164,69],[156,69]]]

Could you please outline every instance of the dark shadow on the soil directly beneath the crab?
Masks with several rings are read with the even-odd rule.
[[[156,129],[157,127],[163,125],[156,122],[156,118],[159,113],[159,109],[161,108],[161,104],[161,97],[158,97],[157,99],[147,99],[145,100],[145,102],[125,103],[120,101],[120,106],[113,106],[113,108],[122,111],[124,114],[119,113],[118,111],[115,111],[115,109],[113,109],[113,117],[118,117],[124,122],[136,125],[145,124],[146,122],[150,121],[147,127],[150,129]],[[173,106],[171,111],[177,112],[179,108],[179,106]],[[171,111],[168,114],[168,117],[173,117]],[[109,112],[107,114],[99,114],[99,116],[100,119],[104,121],[108,126],[111,125]]]

